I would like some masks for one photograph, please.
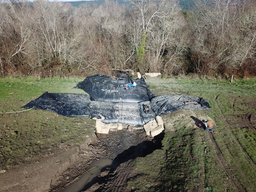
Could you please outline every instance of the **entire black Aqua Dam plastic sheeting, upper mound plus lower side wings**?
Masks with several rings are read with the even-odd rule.
[[[125,84],[134,82],[136,86],[124,90]],[[91,99],[85,94],[45,92],[22,108],[43,109],[70,117],[90,116],[90,118],[101,119],[107,124],[122,123],[136,127],[143,126],[155,119],[157,115],[180,109],[210,109],[210,105],[203,98],[191,97],[188,93],[186,96],[154,97],[142,79],[113,80],[98,74],[87,77],[83,82],[78,83],[77,87],[89,93]],[[104,91],[105,89],[115,91]],[[148,106],[148,113],[143,111],[145,105]]]

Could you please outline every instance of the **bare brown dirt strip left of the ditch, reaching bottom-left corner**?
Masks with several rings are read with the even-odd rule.
[[[79,151],[96,139],[94,134],[80,147],[55,150],[51,155],[42,157],[40,161],[33,161],[0,174],[0,191],[49,191],[63,171],[75,165],[78,158],[83,159],[83,156],[79,156]]]

